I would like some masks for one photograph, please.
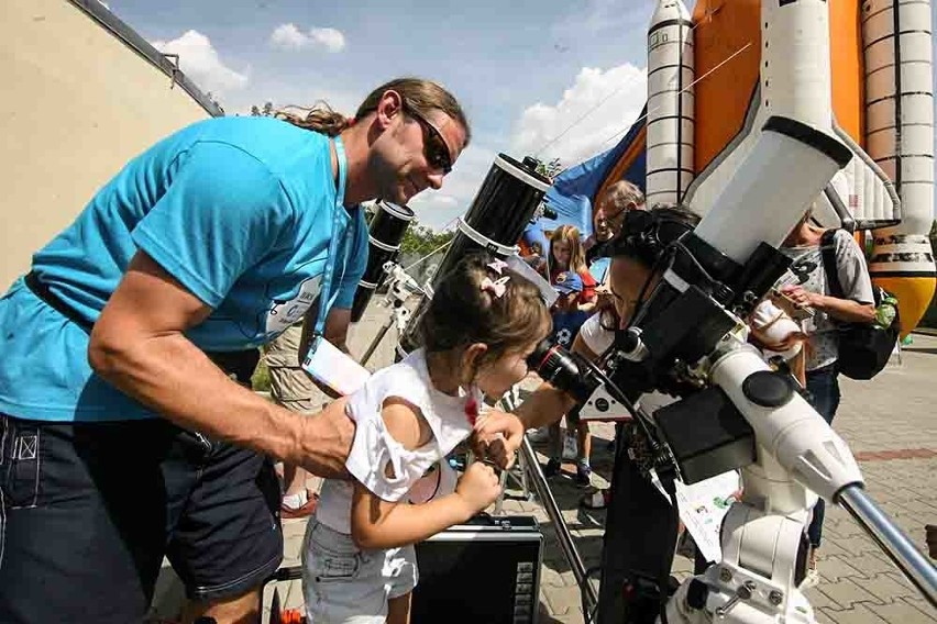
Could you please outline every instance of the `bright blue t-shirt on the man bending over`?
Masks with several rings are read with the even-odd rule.
[[[334,237],[330,292],[335,308],[351,308],[367,231],[363,211],[343,207],[343,149],[337,141],[337,189],[329,144],[268,118],[190,125],[131,160],[33,256],[33,270],[93,323],[142,249],[212,308],[186,336],[206,350],[238,350],[302,317]],[[87,352],[85,330],[22,279],[14,282],[0,299],[0,413],[45,421],[155,416],[95,375]]]

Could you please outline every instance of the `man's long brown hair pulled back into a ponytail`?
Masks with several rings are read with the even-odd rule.
[[[305,114],[279,110],[274,116],[287,121],[293,125],[305,127],[306,130],[320,132],[328,136],[337,136],[352,125],[356,119],[363,119],[376,111],[377,103],[387,91],[397,91],[400,94],[405,112],[414,110],[418,114],[427,116],[433,109],[441,110],[459,122],[465,130],[465,146],[468,145],[472,132],[468,127],[468,119],[462,111],[462,107],[459,105],[452,93],[442,88],[442,86],[422,78],[396,78],[389,82],[385,82],[364,99],[357,108],[354,118],[346,118],[341,113],[337,113],[326,102],[318,102],[311,109],[295,107],[300,111],[306,111]]]

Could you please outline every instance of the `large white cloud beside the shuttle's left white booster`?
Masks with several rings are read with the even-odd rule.
[[[537,102],[515,123],[511,152],[560,158],[564,167],[611,147],[647,100],[647,70],[630,63],[606,71],[584,67],[555,104]]]

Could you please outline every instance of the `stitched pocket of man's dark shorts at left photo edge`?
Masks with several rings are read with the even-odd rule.
[[[36,505],[40,484],[41,430],[16,426],[4,416],[2,423],[2,456],[0,456],[0,489],[7,509]]]

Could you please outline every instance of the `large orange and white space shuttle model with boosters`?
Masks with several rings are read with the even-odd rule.
[[[644,125],[603,187],[643,181],[649,204],[705,215],[768,118],[835,135],[853,156],[814,215],[871,232],[872,279],[897,294],[911,332],[935,289],[930,12],[927,0],[698,0],[691,14],[660,0]]]

